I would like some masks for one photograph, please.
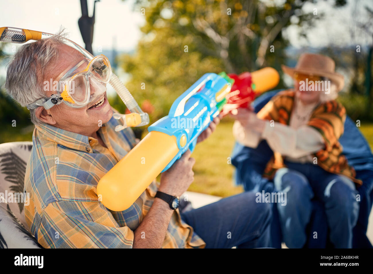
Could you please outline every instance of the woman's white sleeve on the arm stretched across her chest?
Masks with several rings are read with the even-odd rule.
[[[313,127],[304,125],[293,129],[281,123],[266,123],[261,136],[269,147],[283,156],[300,158],[325,147],[322,135]]]

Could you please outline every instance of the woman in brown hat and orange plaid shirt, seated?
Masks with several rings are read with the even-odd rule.
[[[276,205],[289,248],[305,245],[313,198],[325,207],[333,245],[351,248],[359,210],[355,184],[362,182],[338,142],[346,111],[335,99],[343,76],[334,71],[332,59],[319,54],[302,54],[295,68],[282,69],[294,79],[294,88],[278,93],[257,114],[239,109],[233,135],[253,148],[264,139],[273,151],[263,177],[286,193],[286,203]]]

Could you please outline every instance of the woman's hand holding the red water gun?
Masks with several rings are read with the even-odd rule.
[[[243,127],[248,127],[255,130],[258,133],[263,133],[267,121],[257,117],[253,108],[237,108],[236,111],[232,111],[231,117],[241,123]]]

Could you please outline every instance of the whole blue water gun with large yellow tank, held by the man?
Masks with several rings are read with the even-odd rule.
[[[169,114],[98,182],[97,194],[110,210],[129,208],[150,183],[169,169],[219,115],[233,80],[226,73],[206,73],[172,104]]]

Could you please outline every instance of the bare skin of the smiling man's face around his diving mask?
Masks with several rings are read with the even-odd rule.
[[[82,53],[79,53],[79,51],[68,45],[62,45],[59,48],[58,58],[48,66],[43,82],[50,82],[50,79],[52,79],[52,81],[59,81],[66,72],[83,59],[84,56]],[[87,65],[88,61],[83,63],[76,72],[84,70]],[[61,129],[89,136],[91,133],[96,132],[100,125],[108,122],[113,115],[112,108],[107,101],[106,85],[91,77],[90,89],[91,95],[101,95],[85,107],[73,108],[62,103],[53,106],[49,110],[45,110],[44,108],[40,110],[41,107],[39,107],[36,112],[40,113],[41,120],[43,120],[43,118],[45,119],[43,122]],[[47,96],[50,96],[55,94],[56,91],[46,91],[46,93]]]

